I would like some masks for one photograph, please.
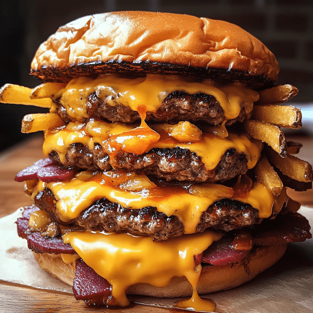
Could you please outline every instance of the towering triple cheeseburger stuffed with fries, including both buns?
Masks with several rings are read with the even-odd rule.
[[[301,112],[278,63],[236,25],[189,15],[112,12],[60,27],[41,44],[30,89],[4,103],[48,107],[46,159],[19,172],[32,205],[18,218],[41,268],[87,305],[127,294],[191,297],[251,280],[288,242],[311,237],[286,187],[312,186],[280,127]]]

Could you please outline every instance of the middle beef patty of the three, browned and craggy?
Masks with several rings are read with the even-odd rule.
[[[56,151],[49,153],[49,157],[61,163]],[[100,144],[95,144],[91,150],[81,143],[74,143],[67,150],[64,165],[103,171],[109,171],[112,167],[130,172],[142,169],[146,175],[155,175],[167,181],[224,182],[245,174],[247,162],[245,154],[233,148],[225,152],[213,170],[208,170],[196,153],[182,148],[153,148],[142,155],[120,152],[114,160],[110,160]]]

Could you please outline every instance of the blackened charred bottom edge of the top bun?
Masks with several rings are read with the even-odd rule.
[[[262,90],[277,85],[277,81],[270,80],[262,75],[255,75],[249,72],[240,72],[226,69],[213,69],[203,67],[192,67],[186,65],[141,62],[130,63],[126,61],[92,62],[70,67],[42,67],[38,70],[31,70],[30,74],[44,82],[67,83],[73,78],[80,76],[96,76],[99,74],[125,73],[125,74],[172,74],[183,75],[196,79],[213,79],[221,83],[239,81],[247,84],[252,89]]]

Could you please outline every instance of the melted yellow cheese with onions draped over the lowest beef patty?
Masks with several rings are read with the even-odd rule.
[[[167,216],[177,216],[184,224],[185,233],[196,232],[202,213],[215,201],[224,198],[239,200],[258,209],[259,218],[268,218],[272,207],[275,206],[275,212],[279,211],[283,205],[282,198],[285,199],[284,192],[279,197],[274,197],[272,192],[259,182],[255,182],[251,190],[243,195],[233,194],[232,188],[218,184],[194,186],[196,187],[192,185],[189,189],[180,186],[162,187],[150,182],[143,174],[133,176],[126,172],[120,175],[116,172],[103,172],[90,174],[87,178],[77,175],[68,182],[39,181],[32,198],[45,187],[49,188],[57,201],[56,213],[64,222],[77,218],[94,201],[101,198],[117,202],[124,208],[140,209],[152,206]],[[197,189],[197,186],[204,187]],[[208,188],[207,192],[203,192],[205,188]]]

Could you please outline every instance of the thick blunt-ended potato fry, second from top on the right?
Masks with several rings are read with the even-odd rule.
[[[252,119],[285,128],[301,128],[301,118],[300,109],[291,105],[256,105],[252,111]]]

